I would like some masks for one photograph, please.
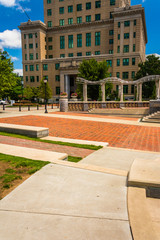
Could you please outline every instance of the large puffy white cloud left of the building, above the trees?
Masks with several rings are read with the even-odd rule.
[[[21,34],[17,29],[0,32],[0,48],[21,48]]]

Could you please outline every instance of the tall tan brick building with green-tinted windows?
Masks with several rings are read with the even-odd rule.
[[[45,77],[54,98],[75,91],[83,59],[106,60],[110,76],[131,81],[145,60],[144,8],[130,0],[44,0],[44,23],[29,20],[19,29],[24,84],[38,87]],[[126,96],[133,93],[124,86]]]

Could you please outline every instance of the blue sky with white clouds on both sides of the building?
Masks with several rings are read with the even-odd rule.
[[[131,5],[145,7],[148,44],[146,54],[160,55],[160,0],[131,0]],[[18,25],[28,19],[43,21],[43,0],[0,0],[0,48],[6,50],[14,62],[15,69],[22,69],[21,39]],[[18,70],[19,71],[19,70]]]

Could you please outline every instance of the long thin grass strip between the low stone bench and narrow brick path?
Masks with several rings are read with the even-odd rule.
[[[57,145],[62,145],[62,146],[84,148],[84,149],[90,149],[90,150],[99,150],[99,149],[103,148],[102,146],[78,144],[78,143],[69,143],[69,142],[61,142],[61,141],[52,141],[52,140],[44,140],[44,139],[40,139],[40,138],[32,138],[32,137],[27,137],[27,136],[24,136],[24,135],[13,134],[13,133],[6,133],[6,132],[0,132],[0,135],[8,136],[8,137],[21,138],[21,139],[27,139],[27,140],[37,141],[37,142],[57,144]]]

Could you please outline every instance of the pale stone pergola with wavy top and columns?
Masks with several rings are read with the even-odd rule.
[[[156,83],[156,97],[160,98],[160,75],[150,75],[140,78],[135,81],[125,81],[117,77],[108,77],[99,81],[89,81],[84,78],[77,77],[77,82],[83,84],[83,100],[87,101],[87,85],[100,85],[102,91],[102,101],[106,101],[105,84],[107,82],[118,85],[120,101],[123,102],[123,85],[135,85],[137,87],[137,101],[142,101],[142,84],[145,82],[155,81]]]

